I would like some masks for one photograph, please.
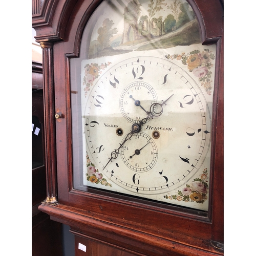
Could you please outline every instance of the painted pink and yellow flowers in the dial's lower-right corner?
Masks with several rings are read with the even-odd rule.
[[[184,201],[184,202],[196,202],[199,204],[204,203],[204,201],[207,199],[207,193],[209,190],[208,187],[208,172],[207,168],[203,170],[203,174],[200,174],[200,178],[194,179],[193,182],[191,182],[190,185],[186,184],[185,187],[182,188],[182,190],[178,190],[178,195],[171,195],[167,196],[165,195],[165,199],[170,200],[178,200],[178,201]]]

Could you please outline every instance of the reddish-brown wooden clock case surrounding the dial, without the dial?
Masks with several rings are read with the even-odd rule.
[[[223,2],[188,2],[199,20],[203,44],[217,44],[207,217],[73,189],[69,60],[79,56],[84,27],[101,1],[45,0],[32,15],[42,47],[46,113],[47,194],[39,209],[71,227],[76,255],[223,254]],[[56,120],[56,113],[63,118]],[[79,243],[88,251],[79,250]]]

